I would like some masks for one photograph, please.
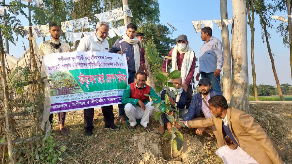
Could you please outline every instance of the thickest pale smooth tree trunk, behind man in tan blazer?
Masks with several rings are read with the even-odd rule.
[[[232,91],[230,106],[249,113],[246,1],[232,0]]]

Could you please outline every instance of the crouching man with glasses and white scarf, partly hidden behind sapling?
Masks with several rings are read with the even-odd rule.
[[[187,99],[187,93],[185,92],[185,90],[183,90],[182,88],[182,78],[176,78],[176,79],[172,79],[171,82],[173,82],[173,84],[176,86],[174,87],[170,87],[168,88],[169,91],[174,91],[175,92],[175,98],[172,97],[168,97],[168,101],[171,104],[171,107],[173,109],[175,109],[175,107],[173,105],[175,105],[178,109],[179,109],[179,118],[183,118],[185,116],[185,114],[187,113],[187,109],[185,109],[185,104],[186,104],[186,99]],[[165,94],[166,94],[166,90],[162,91],[161,93],[161,100],[165,100]],[[167,125],[167,129],[170,132],[171,127],[172,127],[172,123],[168,121],[166,114],[163,115],[163,119],[161,119],[161,117],[159,117],[159,122],[161,125],[161,121],[164,124]],[[162,133],[161,133],[162,132]],[[163,131],[162,128],[159,128],[159,133],[163,134],[164,133],[164,126],[163,126]]]

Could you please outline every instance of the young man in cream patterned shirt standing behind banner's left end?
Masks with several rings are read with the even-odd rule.
[[[54,22],[49,23],[49,32],[51,33],[52,38],[48,41],[43,41],[39,45],[39,49],[41,51],[41,55],[47,55],[51,53],[62,53],[62,52],[69,52],[70,46],[68,43],[60,41],[60,36],[62,33],[61,27],[55,24]],[[58,113],[59,116],[59,126],[62,135],[69,134],[67,128],[65,128],[65,116],[66,112]],[[50,114],[49,121],[53,123],[53,114]]]

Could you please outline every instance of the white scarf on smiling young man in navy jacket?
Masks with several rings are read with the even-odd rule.
[[[141,41],[134,37],[133,39],[130,39],[128,35],[125,33],[122,38],[129,44],[133,45],[134,48],[134,60],[135,60],[135,70],[138,72],[140,67],[140,50],[142,48]]]

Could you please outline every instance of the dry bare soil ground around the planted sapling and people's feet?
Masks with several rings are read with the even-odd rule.
[[[255,103],[250,104],[251,115],[266,130],[272,140],[282,149],[285,163],[292,161],[292,105],[284,103]],[[184,129],[183,148],[174,152],[170,159],[168,139],[162,140],[158,133],[158,121],[152,115],[151,132],[145,132],[141,127],[133,131],[128,125],[118,122],[117,106],[114,108],[116,124],[120,130],[104,128],[103,116],[100,110],[95,110],[93,136],[84,135],[83,111],[67,112],[65,127],[70,135],[63,137],[55,123],[53,130],[56,133],[54,141],[56,149],[66,147],[62,152],[62,163],[70,164],[183,164],[183,163],[223,163],[215,154],[217,142],[208,141],[208,134],[198,136],[195,129]],[[54,114],[55,122],[58,115]]]

